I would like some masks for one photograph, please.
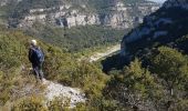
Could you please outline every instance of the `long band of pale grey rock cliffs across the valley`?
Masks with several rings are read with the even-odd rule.
[[[24,0],[23,0],[24,1]],[[58,27],[76,27],[86,24],[102,24],[112,28],[133,28],[143,22],[143,18],[160,6],[154,2],[124,3],[122,0],[114,1],[107,8],[101,11],[91,10],[87,2],[75,4],[73,2],[64,2],[60,6],[49,8],[30,8],[24,10],[24,14],[18,17],[12,16],[11,26],[31,27],[34,22],[51,23]],[[25,12],[27,11],[27,12]],[[18,11],[19,12],[19,11]],[[22,11],[21,11],[22,12]]]

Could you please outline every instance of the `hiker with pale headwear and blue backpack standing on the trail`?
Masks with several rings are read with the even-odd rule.
[[[43,80],[42,64],[44,61],[44,53],[40,47],[38,47],[36,40],[31,40],[31,46],[29,49],[29,60],[32,63],[33,72],[35,74],[36,81]]]

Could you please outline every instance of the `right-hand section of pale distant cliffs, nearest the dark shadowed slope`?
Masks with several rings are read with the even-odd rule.
[[[143,22],[143,18],[154,11],[156,11],[159,6],[155,3],[138,3],[135,6],[124,6],[118,2],[113,7],[113,12],[104,14],[102,19],[102,24],[109,26],[112,28],[134,28],[138,23]]]

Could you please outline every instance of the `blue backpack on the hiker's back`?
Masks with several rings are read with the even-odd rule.
[[[38,62],[44,61],[44,53],[40,48],[32,48],[34,58]]]

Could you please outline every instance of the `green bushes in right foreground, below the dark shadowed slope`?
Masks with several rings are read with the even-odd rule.
[[[122,70],[111,70],[108,74],[112,75],[112,80],[104,95],[116,100],[119,105],[139,110],[185,109],[187,107],[185,102],[188,100],[187,54],[176,49],[160,47],[148,58],[135,59]]]

